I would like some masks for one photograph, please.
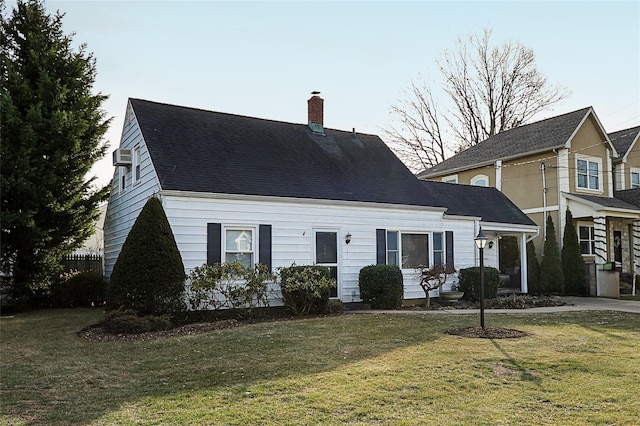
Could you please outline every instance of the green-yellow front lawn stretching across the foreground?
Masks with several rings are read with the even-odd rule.
[[[640,315],[344,315],[89,342],[97,310],[0,318],[0,424],[637,424]]]

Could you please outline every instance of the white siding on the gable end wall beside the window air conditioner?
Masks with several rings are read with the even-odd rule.
[[[129,115],[130,106],[127,108]],[[104,224],[104,274],[108,279],[113,265],[118,259],[129,230],[148,198],[160,190],[158,178],[149,158],[149,152],[142,138],[134,114],[126,120],[122,129],[120,148],[140,148],[140,180],[134,182],[133,167],[115,167],[111,181],[111,193]],[[125,175],[126,187],[121,190],[120,179]]]

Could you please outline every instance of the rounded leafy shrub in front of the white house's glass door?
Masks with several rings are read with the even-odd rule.
[[[294,315],[326,313],[331,289],[337,283],[326,266],[289,266],[278,268],[282,303]]]

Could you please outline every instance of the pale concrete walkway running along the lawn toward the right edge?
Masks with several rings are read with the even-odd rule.
[[[619,311],[640,314],[640,302],[634,300],[605,299],[601,297],[561,297],[566,306],[529,309],[485,309],[486,314],[525,314],[570,311]],[[346,314],[478,314],[479,309],[441,309],[441,310],[354,310]]]

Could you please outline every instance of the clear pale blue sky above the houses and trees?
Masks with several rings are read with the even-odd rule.
[[[7,4],[8,13],[13,2]],[[640,125],[640,2],[46,1],[97,59],[110,96],[112,177],[129,97],[306,123],[313,90],[325,127],[381,134],[389,107],[460,35],[519,41],[571,96],[538,118],[593,106],[608,132]]]

